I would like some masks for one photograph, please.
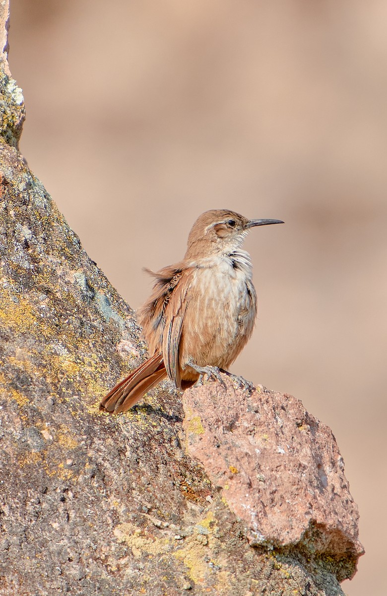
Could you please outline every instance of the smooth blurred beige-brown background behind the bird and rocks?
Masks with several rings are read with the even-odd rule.
[[[233,371],[328,424],[386,594],[387,3],[11,0],[21,151],[133,308],[196,217],[251,231],[259,311]]]

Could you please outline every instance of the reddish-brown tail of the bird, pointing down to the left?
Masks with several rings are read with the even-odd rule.
[[[166,376],[167,371],[164,367],[163,356],[155,354],[117,383],[102,399],[99,409],[112,414],[127,412],[142,398],[144,393],[152,389]]]

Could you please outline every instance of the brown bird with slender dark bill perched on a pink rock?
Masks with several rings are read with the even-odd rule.
[[[113,387],[100,409],[126,412],[167,376],[180,390],[203,374],[221,381],[219,369],[244,348],[257,314],[251,258],[241,246],[250,228],[267,224],[283,222],[206,211],[189,232],[184,259],[148,271],[156,281],[138,319],[151,358]]]

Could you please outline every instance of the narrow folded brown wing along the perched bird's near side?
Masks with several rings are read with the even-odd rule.
[[[178,283],[170,293],[164,311],[165,327],[163,331],[163,360],[168,377],[176,387],[181,388],[179,366],[179,344],[182,337],[182,328],[186,309],[189,303],[189,287],[191,285],[191,272],[185,271]]]

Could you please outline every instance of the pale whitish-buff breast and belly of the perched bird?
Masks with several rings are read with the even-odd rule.
[[[227,368],[249,339],[255,321],[251,279],[232,266],[199,269],[190,288],[180,343],[180,365]]]

